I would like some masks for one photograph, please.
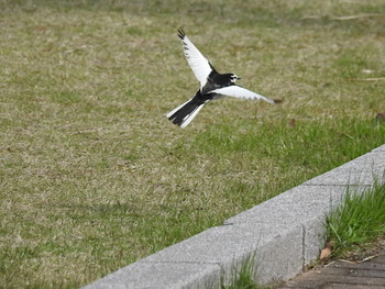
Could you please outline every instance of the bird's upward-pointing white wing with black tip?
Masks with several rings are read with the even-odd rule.
[[[178,36],[182,40],[186,59],[190,65],[196,78],[199,80],[200,87],[204,87],[207,82],[208,76],[213,68],[209,60],[198,51],[198,48],[186,36],[185,32],[182,29],[178,30]]]

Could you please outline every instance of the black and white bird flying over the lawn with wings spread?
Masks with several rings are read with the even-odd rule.
[[[194,98],[166,114],[173,123],[180,127],[187,126],[208,101],[222,97],[263,99],[274,103],[272,99],[237,86],[235,81],[240,79],[237,75],[219,74],[182,29],[178,30],[178,36],[182,40],[186,59],[200,82],[200,88]]]

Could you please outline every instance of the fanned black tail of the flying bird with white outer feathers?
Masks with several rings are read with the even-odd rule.
[[[168,112],[166,116],[168,120],[173,121],[173,123],[185,127],[193,121],[204,105],[205,102],[196,101],[196,98],[193,98]]]

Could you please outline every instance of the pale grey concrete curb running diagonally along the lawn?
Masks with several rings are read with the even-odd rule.
[[[84,288],[219,288],[251,257],[258,284],[288,280],[317,259],[346,186],[384,184],[384,173],[385,145]]]

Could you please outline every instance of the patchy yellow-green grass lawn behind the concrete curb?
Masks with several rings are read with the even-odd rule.
[[[0,288],[77,288],[385,143],[383,0],[0,2]],[[198,88],[176,30],[279,104]]]

